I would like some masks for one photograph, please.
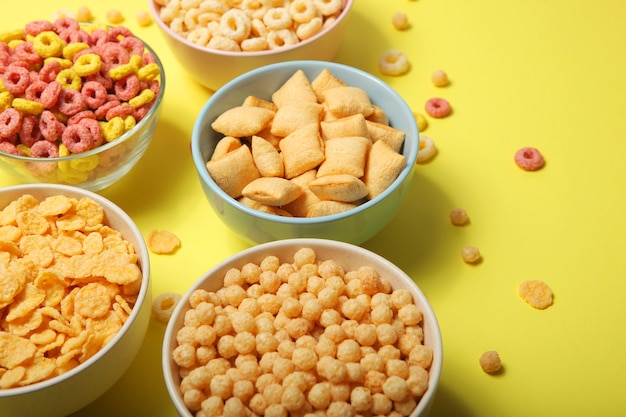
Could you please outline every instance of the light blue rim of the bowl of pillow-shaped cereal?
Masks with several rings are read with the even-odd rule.
[[[327,68],[331,72],[333,68],[341,68],[344,70],[353,71],[356,74],[359,74],[360,76],[366,79],[369,79],[371,82],[383,87],[385,90],[389,92],[390,95],[394,96],[396,100],[398,100],[400,103],[403,104],[406,111],[408,111],[409,113],[412,113],[411,108],[409,107],[407,102],[404,100],[404,98],[396,90],[394,90],[390,85],[385,83],[383,80],[359,68],[351,67],[345,64],[340,64],[337,62],[316,61],[316,60],[297,60],[297,61],[278,62],[278,63],[269,64],[269,65],[256,68],[254,70],[248,71],[232,79],[231,81],[226,83],[222,88],[217,90],[207,100],[207,102],[204,104],[204,106],[200,110],[200,113],[198,114],[196,118],[196,122],[194,124],[193,131],[192,131],[191,152],[192,152],[194,164],[196,165],[196,170],[198,171],[202,181],[205,182],[215,192],[215,194],[217,194],[220,197],[221,200],[225,201],[230,206],[240,211],[243,211],[244,213],[250,216],[258,217],[265,221],[271,221],[271,222],[283,223],[283,224],[289,224],[289,225],[306,225],[306,224],[321,224],[321,223],[334,222],[340,219],[344,219],[346,217],[356,215],[380,203],[381,201],[386,199],[387,196],[389,196],[391,193],[395,192],[398,186],[402,182],[404,182],[404,180],[413,172],[413,165],[415,164],[415,161],[417,159],[417,151],[418,151],[419,144],[415,146],[415,149],[409,155],[405,155],[406,166],[402,169],[402,171],[400,172],[400,175],[398,175],[398,177],[393,181],[393,183],[389,187],[387,187],[387,189],[385,189],[381,194],[376,196],[374,199],[369,200],[363,204],[356,206],[355,208],[344,211],[342,213],[336,213],[336,214],[331,214],[331,215],[322,216],[322,217],[310,217],[310,218],[278,216],[275,214],[264,213],[260,210],[255,210],[253,208],[246,206],[245,204],[240,203],[236,199],[230,197],[228,194],[226,194],[226,192],[224,192],[224,190],[222,190],[217,185],[217,183],[215,183],[215,181],[213,180],[213,178],[211,178],[211,176],[209,175],[209,173],[207,172],[205,168],[205,162],[200,152],[200,141],[202,141],[203,138],[200,137],[199,135],[199,131],[204,122],[204,118],[206,117],[206,114],[208,113],[213,103],[220,100],[223,96],[228,95],[230,90],[236,88],[238,84],[242,83],[243,81],[247,79],[255,78],[259,75],[271,73],[275,70],[280,70],[283,68],[297,69],[301,67],[311,67],[311,66],[315,68],[319,68],[320,70]],[[414,133],[415,140],[419,143],[419,132],[418,132],[417,123],[415,122],[415,120],[412,123],[412,127],[414,130],[413,133]],[[413,137],[413,135],[411,135],[411,137]]]

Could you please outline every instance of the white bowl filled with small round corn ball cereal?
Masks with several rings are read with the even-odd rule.
[[[206,272],[168,322],[181,416],[426,416],[442,366],[435,313],[381,256],[325,239],[246,249]]]

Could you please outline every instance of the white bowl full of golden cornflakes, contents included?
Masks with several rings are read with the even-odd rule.
[[[150,320],[143,237],[77,187],[0,189],[0,410],[69,415],[130,366]]]

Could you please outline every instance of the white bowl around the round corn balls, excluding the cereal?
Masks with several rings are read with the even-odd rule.
[[[223,286],[223,278],[230,268],[241,268],[246,263],[257,265],[268,255],[277,256],[281,263],[293,262],[294,253],[300,248],[312,248],[318,260],[333,259],[345,271],[356,270],[361,266],[375,268],[385,277],[393,289],[406,288],[413,295],[415,304],[423,313],[424,345],[433,351],[433,361],[429,368],[429,387],[411,413],[411,417],[424,417],[430,411],[441,374],[443,348],[439,324],[435,313],[411,277],[387,259],[359,246],[325,239],[285,239],[253,246],[220,262],[187,290],[176,306],[165,331],[163,341],[163,374],[172,402],[181,417],[193,417],[185,406],[179,389],[180,376],[178,366],[172,360],[172,351],[176,347],[176,334],[183,326],[185,313],[189,310],[189,297],[197,289],[216,291]]]

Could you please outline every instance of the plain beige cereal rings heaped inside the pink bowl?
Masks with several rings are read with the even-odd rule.
[[[159,18],[174,33],[201,47],[258,52],[296,45],[330,27],[342,0],[158,0]]]

